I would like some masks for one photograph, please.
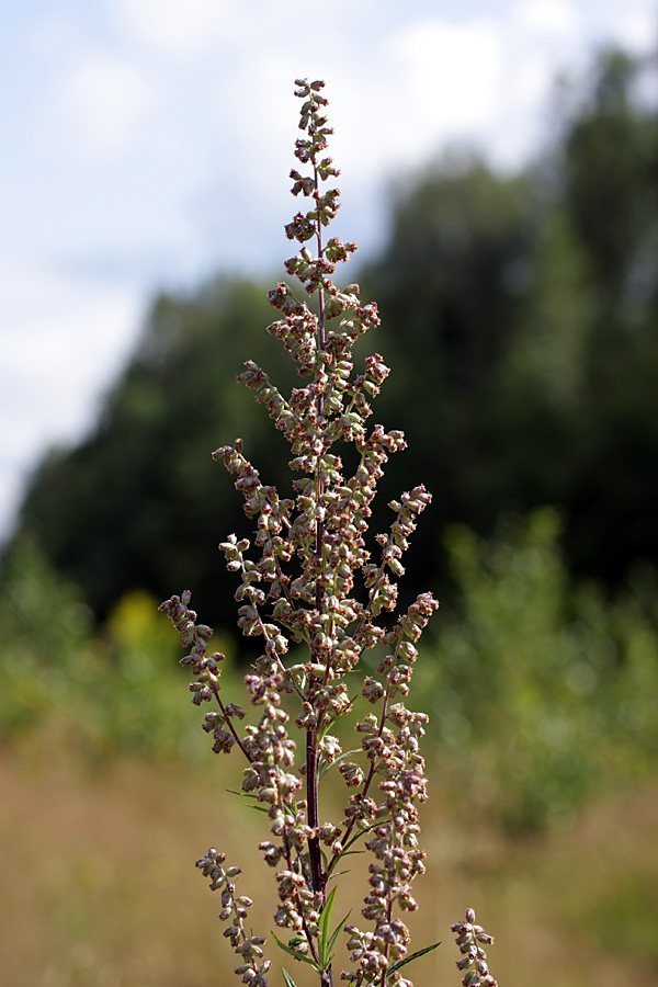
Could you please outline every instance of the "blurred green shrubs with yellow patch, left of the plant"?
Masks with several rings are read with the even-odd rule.
[[[203,763],[180,708],[177,657],[148,593],[122,598],[95,631],[35,543],[14,545],[0,606],[0,741],[58,739],[93,761],[127,752]]]

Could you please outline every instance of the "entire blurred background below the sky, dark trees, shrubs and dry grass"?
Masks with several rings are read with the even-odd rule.
[[[434,795],[418,928],[445,944],[419,985],[457,983],[446,926],[467,905],[507,987],[658,985],[656,65],[602,53],[553,110],[521,173],[455,151],[405,177],[387,242],[347,272],[393,368],[374,420],[409,442],[373,534],[400,490],[434,497],[405,581],[442,602],[416,703]],[[206,753],[157,604],[192,590],[237,692],[216,546],[249,527],[211,452],[239,435],[290,487],[235,384],[248,358],[295,383],[264,331],[271,286],[155,298],[93,430],[26,490],[0,577],[10,987],[231,982],[191,864],[225,837],[243,863],[259,837],[228,815],[238,783]]]

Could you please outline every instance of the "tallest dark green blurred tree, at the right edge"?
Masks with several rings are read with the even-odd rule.
[[[572,567],[617,582],[658,560],[658,105],[654,59],[601,54],[560,135],[586,336],[565,490]]]

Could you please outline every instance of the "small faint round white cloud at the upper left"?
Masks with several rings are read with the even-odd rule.
[[[134,149],[159,103],[154,78],[114,55],[83,54],[48,100],[48,138],[88,163],[114,162]]]

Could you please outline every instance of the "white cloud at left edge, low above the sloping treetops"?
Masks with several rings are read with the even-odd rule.
[[[0,540],[27,468],[80,438],[139,325],[140,297],[0,256]]]

